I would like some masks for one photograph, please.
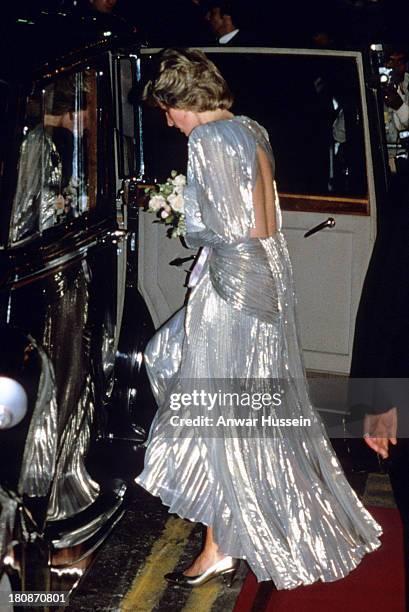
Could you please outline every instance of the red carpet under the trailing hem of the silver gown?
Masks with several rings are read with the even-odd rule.
[[[382,546],[343,580],[291,591],[258,584],[250,572],[234,612],[405,612],[402,525],[397,510],[371,508]]]

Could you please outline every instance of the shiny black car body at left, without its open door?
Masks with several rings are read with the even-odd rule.
[[[0,80],[0,576],[17,591],[78,579],[124,511],[154,409],[137,44],[76,40],[32,61],[23,40]]]

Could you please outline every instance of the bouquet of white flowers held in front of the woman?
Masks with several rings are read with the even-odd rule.
[[[146,210],[155,213],[154,223],[168,225],[169,238],[179,238],[186,233],[183,189],[186,185],[184,174],[172,170],[166,183],[157,183],[153,188],[147,187],[145,193],[149,200]]]

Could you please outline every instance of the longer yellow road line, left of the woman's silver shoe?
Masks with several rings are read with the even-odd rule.
[[[142,572],[124,597],[121,606],[123,612],[150,612],[158,603],[168,585],[163,576],[176,566],[194,526],[194,523],[175,517],[167,521],[162,535],[152,546]]]

